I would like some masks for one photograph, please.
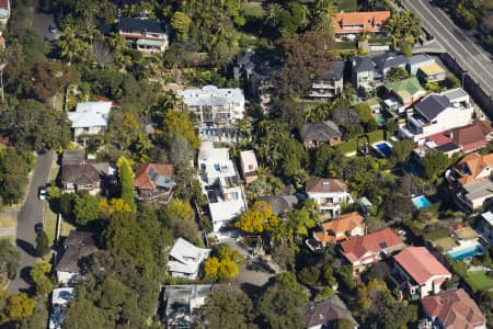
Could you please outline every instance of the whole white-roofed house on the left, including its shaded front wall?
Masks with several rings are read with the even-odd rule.
[[[103,132],[106,128],[111,110],[112,102],[78,103],[76,111],[68,113],[68,117],[72,122],[74,140]]]

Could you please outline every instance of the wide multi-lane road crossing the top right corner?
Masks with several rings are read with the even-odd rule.
[[[421,16],[423,25],[429,30],[435,39],[492,97],[493,64],[490,54],[455,25],[442,9],[432,5],[428,0],[409,0],[405,1],[405,7]]]

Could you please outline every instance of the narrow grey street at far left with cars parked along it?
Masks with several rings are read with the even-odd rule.
[[[28,280],[28,272],[36,262],[36,234],[34,232],[34,225],[43,222],[43,207],[45,205],[47,206],[45,201],[38,200],[37,193],[38,188],[48,181],[53,158],[53,150],[38,155],[27,196],[18,214],[18,236],[15,243],[19,251],[21,251],[21,265],[19,266],[15,280],[9,283],[9,291],[12,293],[27,291],[30,288],[30,284],[25,280]]]

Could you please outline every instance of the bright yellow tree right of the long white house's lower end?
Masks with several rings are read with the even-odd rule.
[[[267,202],[257,201],[250,209],[241,214],[234,226],[248,234],[262,234],[272,231],[279,225],[279,220]]]

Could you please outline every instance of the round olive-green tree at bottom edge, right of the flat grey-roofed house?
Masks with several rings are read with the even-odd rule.
[[[242,291],[218,291],[198,310],[206,328],[253,329],[252,300]]]

